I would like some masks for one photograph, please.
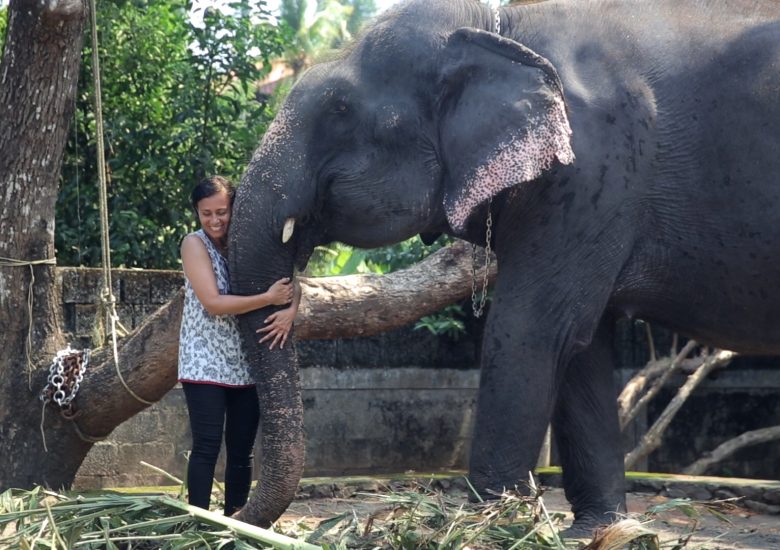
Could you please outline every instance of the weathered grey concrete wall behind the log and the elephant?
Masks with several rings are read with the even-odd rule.
[[[89,345],[99,287],[97,270],[61,270],[63,310],[74,346]],[[120,316],[137,325],[181,285],[181,274],[115,270]],[[478,327],[472,330],[478,334]],[[644,328],[618,327],[619,381],[646,361]],[[659,334],[659,346],[667,345]],[[456,342],[402,329],[372,338],[298,344],[307,433],[307,476],[465,469],[476,407],[478,337]],[[740,364],[713,377],[670,427],[648,466],[678,471],[695,455],[742,431],[780,424],[780,369],[771,360]],[[668,396],[667,396],[668,398]],[[665,403],[654,403],[651,418]],[[640,423],[646,419],[640,419]],[[189,449],[180,388],[94,446],[77,477],[80,487],[149,485],[165,478],[139,464],[184,475]],[[629,437],[627,445],[634,437]],[[777,479],[780,443],[741,453],[715,473]],[[259,457],[258,457],[259,460]]]

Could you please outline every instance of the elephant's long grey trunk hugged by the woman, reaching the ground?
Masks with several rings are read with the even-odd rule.
[[[282,226],[296,215],[288,211],[291,193],[287,182],[299,185],[303,174],[291,175],[289,162],[285,166],[284,160],[302,157],[280,150],[283,145],[278,142],[268,143],[277,122],[252,159],[236,196],[229,242],[231,291],[235,294],[265,292],[278,279],[293,275],[298,239],[283,243]],[[285,511],[304,465],[303,404],[294,348],[269,350],[268,342],[258,343],[262,335],[256,333],[275,309],[239,316],[244,351],[257,382],[262,429],[258,488],[239,518],[260,526],[270,525]]]

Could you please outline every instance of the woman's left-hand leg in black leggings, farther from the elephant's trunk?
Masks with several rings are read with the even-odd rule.
[[[208,509],[225,424],[225,388],[182,382],[190,413],[192,452],[187,469],[189,503]]]

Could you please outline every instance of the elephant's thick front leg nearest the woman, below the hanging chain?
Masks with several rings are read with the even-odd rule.
[[[559,328],[499,281],[483,338],[469,459],[469,478],[483,498],[524,487],[536,465],[556,396],[557,337],[550,330]]]

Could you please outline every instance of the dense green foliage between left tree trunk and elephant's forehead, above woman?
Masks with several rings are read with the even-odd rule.
[[[255,83],[285,47],[262,0],[208,9],[189,0],[101,4],[98,13],[112,263],[178,265],[195,227],[190,189],[207,174],[241,175],[273,113]],[[197,14],[196,14],[197,15]],[[91,46],[62,170],[60,265],[100,263]]]

